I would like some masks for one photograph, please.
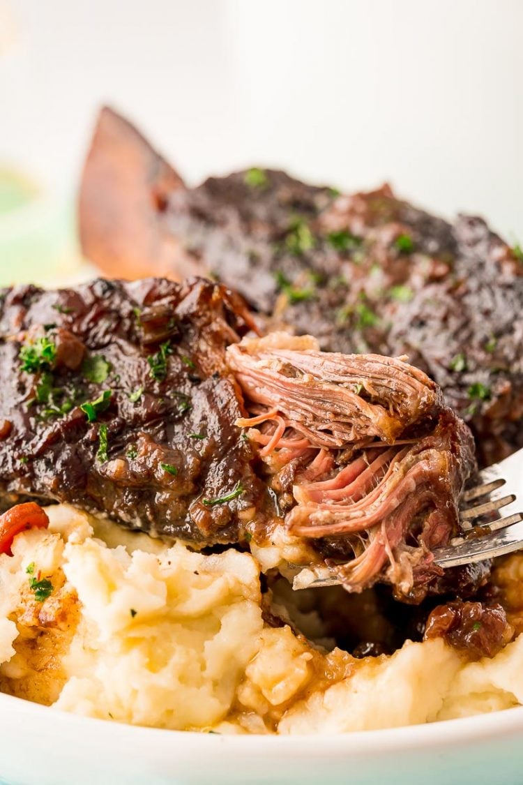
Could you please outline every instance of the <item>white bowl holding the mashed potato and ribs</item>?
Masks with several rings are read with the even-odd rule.
[[[523,707],[343,736],[219,736],[136,728],[0,696],[9,785],[523,782]]]

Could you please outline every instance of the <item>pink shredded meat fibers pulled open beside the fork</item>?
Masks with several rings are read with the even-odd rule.
[[[441,568],[474,469],[467,426],[405,360],[318,351],[271,334],[227,349],[285,526],[311,541],[349,591],[380,580],[419,600]]]

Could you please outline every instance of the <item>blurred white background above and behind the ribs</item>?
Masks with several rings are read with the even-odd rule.
[[[103,103],[187,181],[389,181],[515,242],[521,30],[521,0],[0,0],[0,284],[89,273],[74,195]]]

